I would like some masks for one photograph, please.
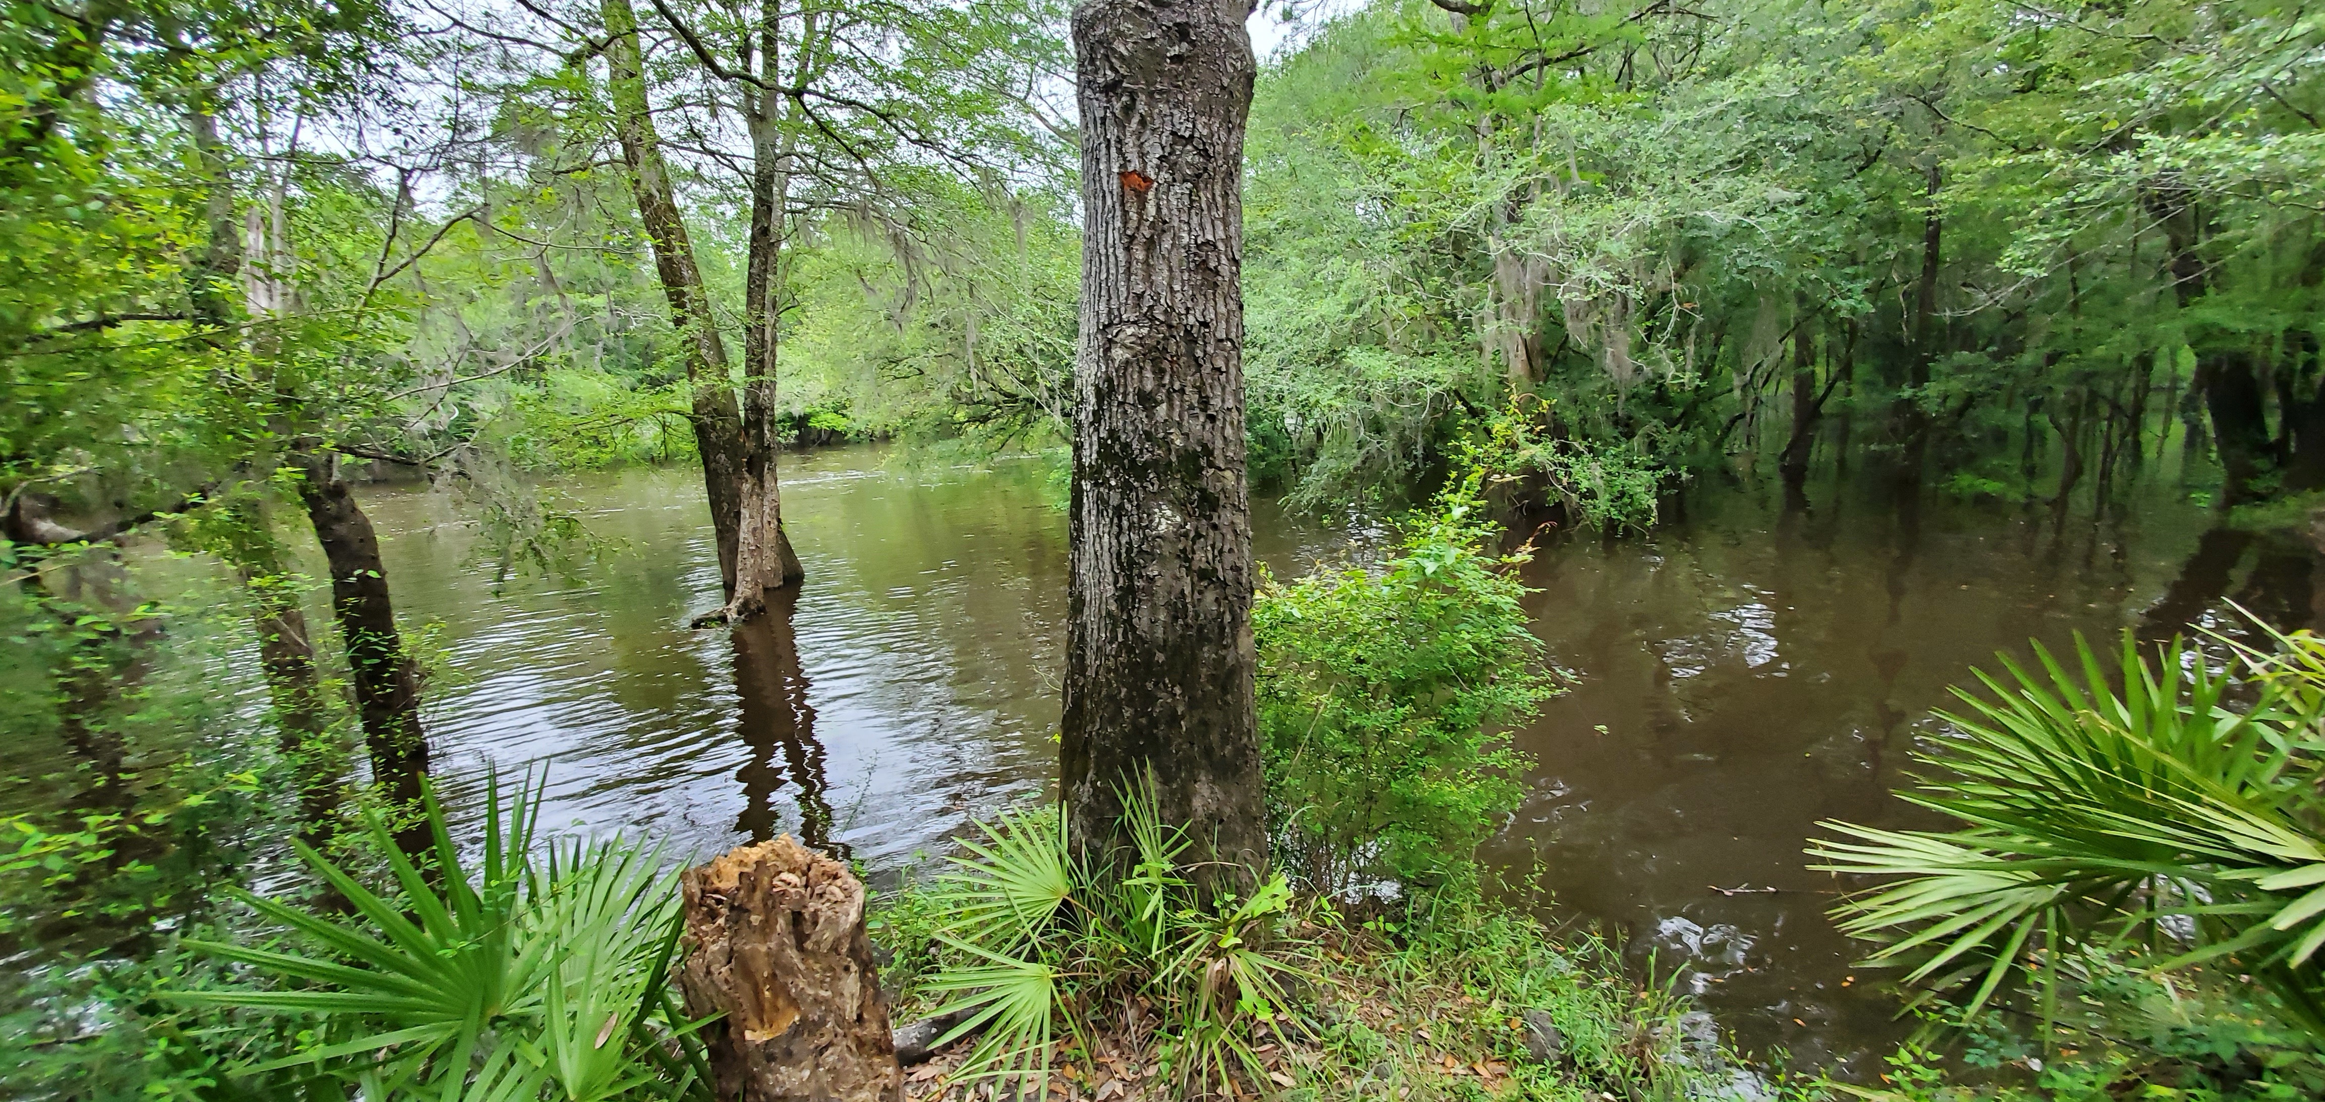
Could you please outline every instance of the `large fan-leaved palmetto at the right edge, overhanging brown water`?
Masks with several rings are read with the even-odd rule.
[[[2116,670],[2076,639],[2076,670],[2002,658],[1988,695],[1918,758],[1907,800],[1955,830],[1820,823],[1818,870],[1890,876],[1846,897],[1841,930],[1872,963],[1962,988],[1976,1011],[2023,979],[2055,981],[2076,944],[2139,946],[2158,967],[2230,963],[2325,1032],[2325,639],[2230,644],[2225,670],[2174,639]],[[1902,879],[1895,879],[1902,876]]]

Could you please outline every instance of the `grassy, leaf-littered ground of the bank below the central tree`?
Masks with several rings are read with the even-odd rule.
[[[1025,818],[1046,825],[1046,816]],[[900,949],[888,974],[902,993],[900,1021],[958,1007],[946,976],[972,976],[956,967],[986,960],[942,932],[953,911],[946,890],[907,888],[881,911]],[[1611,1093],[1646,1102],[1718,1097],[1734,1076],[1683,995],[1639,983],[1604,942],[1555,937],[1474,888],[1414,895],[1369,916],[1302,897],[1246,932],[1269,937],[1265,953],[1279,965],[1267,969],[1267,1014],[1190,1021],[1202,1007],[1172,990],[1200,983],[1200,969],[1114,986],[1093,983],[1090,972],[1056,1004],[1074,1025],[1007,1042],[963,1037],[907,1074],[907,1095],[983,1097],[1002,1051],[1021,1058],[1002,1097],[1016,1088],[1060,1100],[1602,1102]],[[1093,990],[1104,995],[1093,1000]],[[1228,1002],[1244,1000],[1221,997],[1211,1009]],[[1186,1039],[1204,1030],[1232,1053],[1209,1081],[1186,1074]],[[1046,1049],[1025,1049],[1028,1039]]]

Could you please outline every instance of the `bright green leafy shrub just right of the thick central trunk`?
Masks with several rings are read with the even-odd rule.
[[[1525,628],[1525,551],[1493,551],[1479,474],[1376,570],[1267,581],[1253,607],[1276,860],[1311,888],[1435,883],[1525,795],[1504,728],[1555,693]]]

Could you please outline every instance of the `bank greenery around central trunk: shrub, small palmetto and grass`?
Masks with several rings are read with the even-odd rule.
[[[1053,809],[1014,811],[884,904],[900,1016],[951,1023],[914,1097],[988,1079],[1095,1100],[1727,1088],[1686,997],[1483,893],[1476,846],[1528,765],[1504,732],[1558,690],[1486,477],[1404,518],[1379,565],[1260,588],[1272,879],[1202,902],[1176,872],[1186,839],[1130,790],[1114,860],[1076,863]]]

